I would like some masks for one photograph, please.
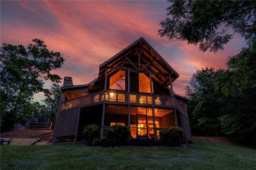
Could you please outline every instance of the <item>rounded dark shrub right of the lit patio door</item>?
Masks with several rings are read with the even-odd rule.
[[[179,146],[182,137],[183,129],[180,127],[170,127],[160,132],[160,142],[169,147]]]

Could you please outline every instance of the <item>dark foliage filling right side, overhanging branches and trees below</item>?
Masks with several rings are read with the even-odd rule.
[[[228,58],[227,70],[206,68],[193,75],[186,88],[192,133],[255,144],[256,1],[168,2],[167,18],[158,30],[161,37],[199,44],[203,52],[223,50],[231,31],[247,42]]]

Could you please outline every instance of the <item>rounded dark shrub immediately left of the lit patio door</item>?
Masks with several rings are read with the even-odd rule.
[[[120,124],[111,126],[108,128],[106,134],[107,145],[109,147],[125,145],[129,141],[130,136],[131,132],[127,126]]]

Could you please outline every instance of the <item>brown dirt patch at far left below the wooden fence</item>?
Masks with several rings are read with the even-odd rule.
[[[52,141],[53,131],[49,130],[31,130],[25,129],[20,131],[10,131],[1,133],[1,137],[15,137],[15,138],[40,138],[43,141]]]

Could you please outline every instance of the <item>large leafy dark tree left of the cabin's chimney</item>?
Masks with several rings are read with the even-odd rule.
[[[27,48],[4,43],[0,56],[1,131],[9,131],[31,111],[33,94],[45,92],[43,80],[60,83],[52,70],[60,68],[64,59],[40,39],[33,39]]]

